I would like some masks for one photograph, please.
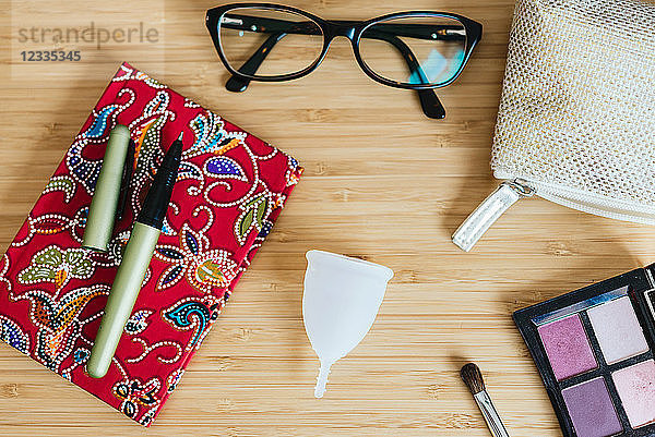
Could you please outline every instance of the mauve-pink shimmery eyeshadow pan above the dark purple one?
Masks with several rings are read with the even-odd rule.
[[[557,380],[598,366],[577,314],[537,328]]]

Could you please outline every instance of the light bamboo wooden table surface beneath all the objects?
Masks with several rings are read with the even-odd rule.
[[[136,4],[134,4],[136,3]],[[150,429],[13,349],[0,347],[2,435],[487,436],[458,377],[474,361],[512,436],[560,430],[511,314],[654,260],[653,228],[533,198],[474,252],[450,235],[497,185],[489,169],[512,0],[288,1],[332,19],[443,10],[485,25],[429,120],[412,92],[381,86],[341,38],[312,75],[224,88],[207,0],[0,1],[0,246],[7,248],[120,61],[293,154],[307,169],[287,208]],[[157,43],[82,45],[80,62],[23,62],[40,26],[138,26]],[[68,46],[67,46],[68,47]],[[301,317],[305,253],[395,271],[365,340],[313,398],[318,360]]]

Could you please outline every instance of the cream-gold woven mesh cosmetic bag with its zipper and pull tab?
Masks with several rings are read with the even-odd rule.
[[[493,139],[503,179],[453,234],[465,251],[538,195],[655,224],[655,3],[519,0]]]

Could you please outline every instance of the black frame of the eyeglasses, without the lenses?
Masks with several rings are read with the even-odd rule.
[[[281,12],[290,12],[296,15],[305,16],[308,20],[315,23],[322,32],[323,47],[321,49],[320,54],[314,60],[314,62],[312,62],[310,65],[308,65],[307,68],[305,68],[303,70],[300,70],[298,72],[287,73],[287,74],[282,74],[282,75],[274,75],[274,76],[258,76],[254,74],[246,74],[242,71],[239,71],[239,70],[236,70],[235,68],[233,68],[230,65],[230,63],[228,62],[227,57],[225,56],[225,52],[222,47],[218,24],[219,24],[221,17],[224,14],[226,14],[227,12],[229,12],[230,10],[247,9],[247,8],[264,9],[264,10],[281,11]],[[367,65],[367,63],[364,61],[361,53],[359,51],[359,43],[361,40],[362,34],[372,25],[382,24],[386,21],[394,20],[394,19],[406,19],[406,17],[452,19],[452,20],[460,22],[464,26],[464,29],[466,32],[466,44],[465,44],[465,49],[464,49],[464,58],[462,60],[462,64],[460,65],[460,69],[451,78],[449,78],[448,81],[445,81],[443,83],[438,83],[438,84],[401,83],[397,81],[392,81],[392,80],[382,77],[381,75],[376,73],[373,70],[371,70]],[[221,7],[210,9],[206,12],[205,23],[206,23],[207,29],[210,32],[210,35],[212,36],[214,47],[216,48],[216,51],[218,53],[218,57],[221,58],[221,61],[223,62],[225,68],[231,73],[233,80],[234,78],[239,80],[237,84],[233,83],[231,86],[228,85],[228,89],[230,89],[230,90],[234,90],[234,92],[245,90],[250,81],[286,82],[286,81],[293,81],[296,78],[303,77],[303,76],[312,73],[321,64],[321,62],[325,59],[325,56],[327,54],[327,50],[330,49],[330,46],[331,46],[332,41],[334,40],[334,38],[336,38],[337,36],[344,36],[350,40],[350,45],[353,46],[353,51],[355,53],[355,59],[356,59],[359,68],[366,73],[366,75],[368,75],[370,78],[372,78],[373,81],[376,81],[382,85],[391,86],[394,88],[418,90],[419,97],[421,100],[421,105],[424,107],[424,111],[426,112],[426,114],[428,117],[439,118],[439,119],[445,117],[445,110],[439,102],[439,99],[437,98],[437,96],[433,93],[428,94],[428,93],[426,93],[426,90],[442,88],[442,87],[445,87],[445,86],[452,84],[454,81],[456,81],[457,77],[464,71],[464,69],[466,68],[466,64],[468,63],[468,60],[471,59],[473,50],[475,49],[477,44],[480,41],[481,36],[483,36],[483,25],[480,23],[477,23],[477,22],[475,22],[471,19],[467,19],[463,15],[448,13],[448,12],[433,12],[433,11],[396,12],[396,13],[391,13],[391,14],[373,17],[373,19],[370,19],[367,21],[323,20],[317,15],[313,15],[313,14],[302,11],[300,9],[287,7],[287,5],[283,5],[283,4],[274,4],[274,3],[224,4]],[[400,38],[397,38],[397,39],[400,40]],[[274,41],[273,44],[275,44],[275,43],[276,41]],[[401,44],[404,44],[404,43],[401,41]],[[264,43],[264,45],[265,45],[265,43]],[[414,54],[410,51],[408,52],[408,58],[407,58],[406,53],[404,53],[404,56],[408,63],[412,61],[412,62],[418,64],[416,61],[416,58],[414,57]],[[240,88],[239,88],[239,86],[240,86]]]

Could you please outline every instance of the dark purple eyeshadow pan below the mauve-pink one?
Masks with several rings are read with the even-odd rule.
[[[562,390],[577,437],[607,437],[623,430],[603,378]]]

